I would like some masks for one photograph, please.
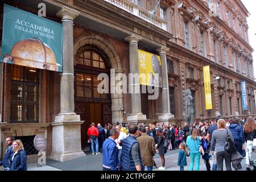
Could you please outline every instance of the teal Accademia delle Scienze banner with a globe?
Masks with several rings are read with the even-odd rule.
[[[62,33],[60,23],[5,5],[0,61],[62,72]]]

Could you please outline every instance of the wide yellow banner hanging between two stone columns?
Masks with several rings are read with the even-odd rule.
[[[160,56],[138,49],[139,57],[139,83],[141,85],[162,85],[162,66]]]

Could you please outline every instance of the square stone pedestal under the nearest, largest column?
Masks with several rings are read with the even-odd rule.
[[[85,156],[81,150],[80,115],[59,114],[52,126],[52,153],[50,159],[64,162]]]

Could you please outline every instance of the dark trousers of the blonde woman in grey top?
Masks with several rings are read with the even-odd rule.
[[[217,171],[223,171],[223,160],[225,159],[226,171],[232,171],[231,168],[231,153],[227,151],[217,152]]]

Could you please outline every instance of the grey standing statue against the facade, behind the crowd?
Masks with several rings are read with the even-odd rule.
[[[186,122],[193,123],[193,104],[192,104],[193,97],[191,96],[191,91],[189,89],[185,90],[185,115],[186,115]]]

